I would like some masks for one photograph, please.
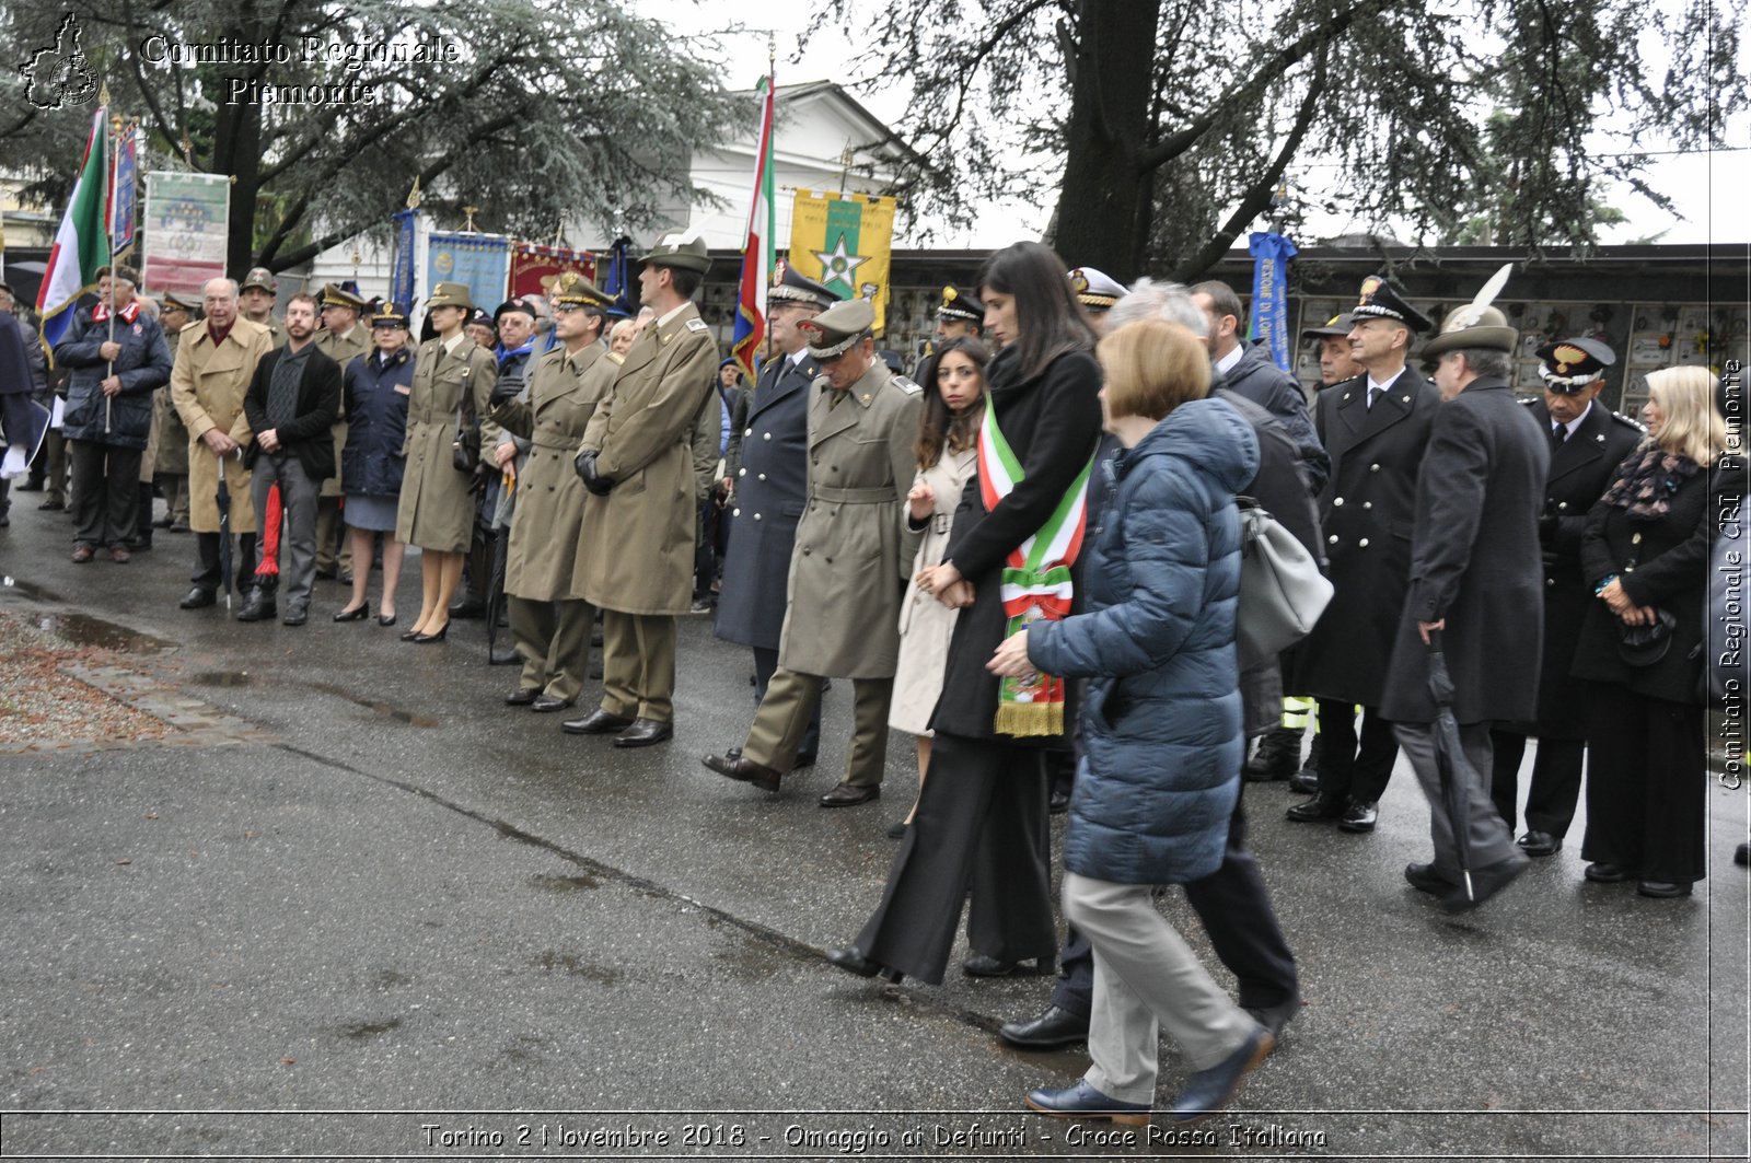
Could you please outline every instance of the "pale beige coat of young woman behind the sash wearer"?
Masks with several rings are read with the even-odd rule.
[[[954,527],[954,510],[960,508],[961,492],[977,464],[977,448],[963,452],[944,448],[942,459],[914,480],[928,483],[937,494],[937,511],[930,515],[925,536],[918,543],[912,576],[926,566],[942,562],[942,552],[949,546],[949,529]],[[902,513],[904,506],[902,499]],[[942,667],[949,660],[949,638],[954,634],[954,618],[960,613],[939,603],[935,596],[919,592],[918,583],[907,580],[905,597],[900,599],[900,660],[893,671],[890,727],[914,736],[930,730],[930,715],[937,709],[937,695],[942,694]]]

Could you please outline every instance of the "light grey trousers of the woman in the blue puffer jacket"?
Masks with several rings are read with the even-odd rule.
[[[1163,1028],[1192,1070],[1208,1070],[1257,1026],[1161,916],[1149,890],[1065,872],[1065,920],[1094,946],[1093,1065],[1082,1077],[1119,1102],[1156,1100]]]

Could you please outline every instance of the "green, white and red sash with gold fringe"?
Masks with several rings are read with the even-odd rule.
[[[1033,536],[1010,550],[1002,574],[1005,638],[1030,622],[1058,622],[1070,613],[1070,566],[1082,552],[1087,522],[1087,485],[1094,459],[1082,466],[1073,485]],[[996,426],[996,408],[986,406],[979,422],[979,499],[989,513],[1021,483],[1021,459]],[[996,723],[1000,736],[1061,736],[1065,732],[1065,680],[1044,671],[1031,680],[998,680]]]

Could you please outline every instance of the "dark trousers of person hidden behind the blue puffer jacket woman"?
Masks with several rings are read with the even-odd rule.
[[[1240,983],[1241,1009],[1269,1009],[1296,997],[1299,976],[1289,951],[1259,862],[1247,848],[1247,813],[1234,800],[1222,863],[1210,876],[1185,885],[1185,900],[1198,913],[1210,948]],[[1094,997],[1094,955],[1075,927],[1065,932],[1063,969],[1052,1005],[1087,1016]]]

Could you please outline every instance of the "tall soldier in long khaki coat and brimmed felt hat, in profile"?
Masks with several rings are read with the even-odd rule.
[[[718,391],[718,343],[693,305],[711,268],[704,238],[664,235],[641,261],[655,319],[616,368],[576,461],[590,496],[573,580],[602,611],[602,702],[566,723],[622,748],[674,737],[674,620],[693,606],[699,525],[688,433]]]

